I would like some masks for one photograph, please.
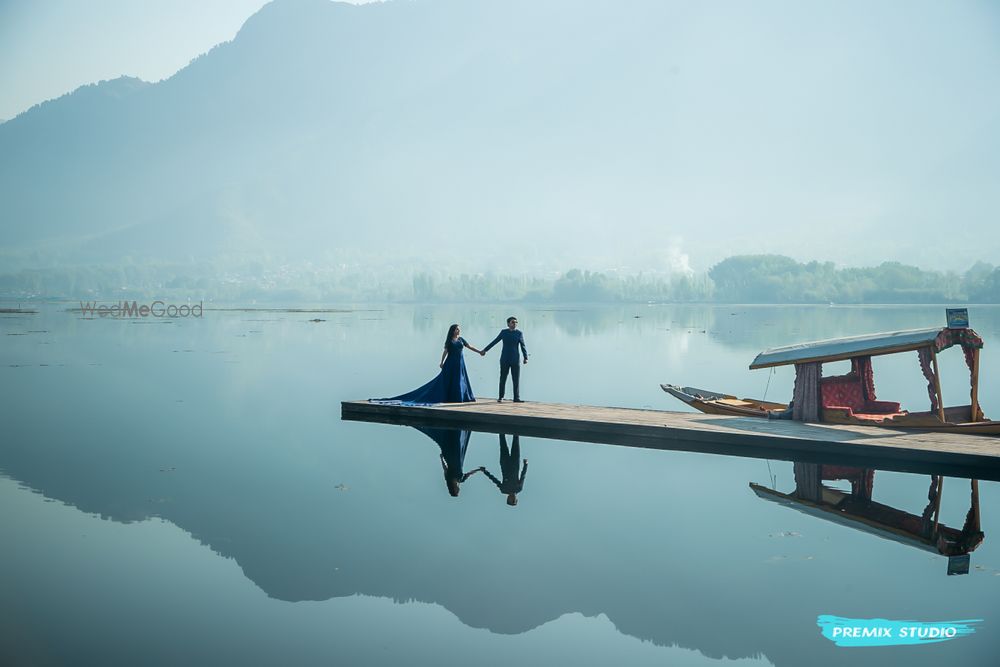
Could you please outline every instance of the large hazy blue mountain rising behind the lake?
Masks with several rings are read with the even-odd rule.
[[[0,257],[964,266],[1000,251],[1000,54],[963,11],[275,0],[0,125]]]

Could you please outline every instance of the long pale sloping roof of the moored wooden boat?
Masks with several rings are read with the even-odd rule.
[[[764,350],[750,364],[750,369],[810,362],[841,361],[861,356],[895,354],[922,348],[940,352],[952,345],[981,348],[983,339],[972,329],[909,329],[885,333],[832,338],[811,343],[786,345]]]

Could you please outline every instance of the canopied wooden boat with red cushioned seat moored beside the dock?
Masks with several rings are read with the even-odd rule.
[[[969,405],[945,407],[941,396],[937,354],[960,346],[971,373]],[[979,407],[979,351],[982,338],[972,329],[914,329],[802,343],[765,350],[751,369],[795,365],[795,391],[790,404],[770,403],[729,394],[663,384],[662,389],[708,414],[781,417],[831,424],[862,424],[889,428],[1000,434],[1000,422],[986,419]],[[917,352],[927,379],[931,409],[910,412],[893,401],[875,398],[871,358]],[[845,375],[822,376],[822,365],[850,360]]]

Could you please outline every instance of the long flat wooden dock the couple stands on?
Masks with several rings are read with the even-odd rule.
[[[343,419],[1000,480],[1000,439],[560,403],[344,401]]]

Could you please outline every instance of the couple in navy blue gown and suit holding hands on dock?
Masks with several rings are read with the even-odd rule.
[[[441,372],[427,384],[409,391],[399,396],[379,401],[399,401],[401,403],[468,403],[476,400],[472,393],[472,385],[469,383],[469,373],[465,369],[465,357],[463,351],[468,348],[480,356],[485,356],[494,345],[503,342],[503,349],[500,352],[500,393],[497,400],[502,401],[504,389],[507,384],[507,375],[510,374],[514,382],[514,402],[521,402],[521,355],[518,348],[523,353],[524,363],[528,363],[528,350],[524,346],[524,334],[517,328],[517,318],[507,318],[507,328],[497,334],[493,342],[482,350],[478,350],[462,338],[462,328],[457,324],[452,324],[448,328],[448,335],[444,339],[444,351],[441,353]]]

